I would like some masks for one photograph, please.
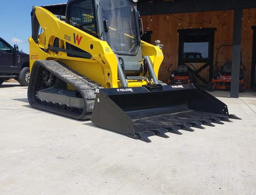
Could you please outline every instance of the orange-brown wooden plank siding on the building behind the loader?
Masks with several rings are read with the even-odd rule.
[[[214,42],[214,58],[213,64],[215,64],[215,55],[219,45],[229,45],[232,44],[232,34],[233,34],[233,10],[227,10],[226,16],[221,15],[223,11],[214,11],[214,12],[195,12],[195,13],[179,13],[174,14],[175,17],[181,18],[181,20],[189,21],[193,23],[202,23],[202,28],[217,28],[215,31],[215,42]],[[245,15],[256,16],[256,9],[246,9],[243,10]],[[205,21],[212,20],[213,18],[219,17],[219,21],[213,20],[211,26],[209,22],[204,23]],[[172,65],[171,70],[177,69],[178,66],[178,29],[189,29],[190,24],[181,21],[179,26],[179,20],[177,18],[169,15],[153,15],[152,21],[149,22],[149,29],[146,30],[152,31],[151,42],[156,39],[161,40],[163,43],[163,54],[164,61],[160,66],[158,78],[164,82],[170,77],[170,73],[167,71],[168,66]],[[143,16],[143,24],[146,26],[151,16]],[[250,23],[248,23],[248,18],[244,17],[242,21],[242,55],[243,63],[246,67],[245,78],[246,84],[250,84],[250,70],[251,70],[251,55],[252,55],[252,40],[253,40],[253,30],[251,26],[256,25],[256,18],[250,18]],[[200,28],[200,24],[192,24],[192,28]],[[226,47],[222,48],[218,55],[218,65],[219,68],[227,60],[232,60],[232,48]],[[193,63],[193,65],[198,69],[204,65],[204,63]],[[209,68],[204,69],[200,72],[200,76],[209,79]],[[198,84],[203,84],[200,81]]]

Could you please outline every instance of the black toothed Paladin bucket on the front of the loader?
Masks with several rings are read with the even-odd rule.
[[[100,89],[91,115],[98,127],[151,142],[152,135],[204,129],[203,125],[224,124],[230,115],[227,105],[195,84]]]

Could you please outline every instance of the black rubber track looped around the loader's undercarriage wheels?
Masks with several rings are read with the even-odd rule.
[[[84,99],[84,109],[82,113],[71,112],[66,109],[61,110],[59,108],[42,105],[41,100],[36,97],[36,92],[42,90],[42,70],[46,69],[51,72],[55,77],[75,87],[78,92],[81,93]],[[65,117],[74,118],[76,120],[89,119],[93,111],[93,105],[95,100],[95,89],[102,88],[99,84],[84,77],[68,66],[59,61],[54,60],[37,60],[32,67],[32,74],[30,75],[30,82],[27,91],[27,98],[29,104],[37,109],[44,110],[50,113],[59,114]]]

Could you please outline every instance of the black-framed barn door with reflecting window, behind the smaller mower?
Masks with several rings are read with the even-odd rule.
[[[212,80],[213,45],[216,28],[179,29],[178,65],[184,63],[205,63],[195,71],[195,76],[204,84]],[[209,66],[209,80],[199,73]],[[192,71],[192,69],[190,69]]]

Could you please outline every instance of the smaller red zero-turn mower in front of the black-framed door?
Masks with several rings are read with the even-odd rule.
[[[168,80],[168,84],[186,84],[186,83],[197,83],[195,78],[195,66],[190,64],[194,71],[192,71],[187,65],[178,65],[177,71],[170,71],[172,64],[168,67],[168,72],[171,72],[171,77]],[[190,71],[189,71],[190,69]]]

